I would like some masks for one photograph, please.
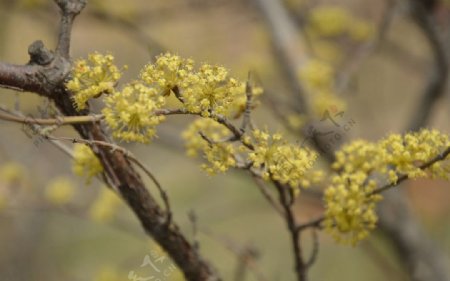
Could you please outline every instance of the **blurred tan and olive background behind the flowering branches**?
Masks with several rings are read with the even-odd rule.
[[[301,136],[292,129],[302,127],[304,119],[290,107],[296,97],[292,77],[274,50],[277,39],[258,2],[264,1],[91,0],[76,20],[71,53],[79,58],[94,51],[111,52],[119,66],[128,66],[121,81],[135,79],[146,63],[166,50],[224,65],[241,80],[252,71],[265,90],[253,112],[255,123],[298,141]],[[354,121],[350,130],[341,132],[343,139],[378,140],[403,132],[416,116],[439,63],[427,34],[411,17],[408,1],[281,2],[298,36],[294,43],[299,61],[313,57],[333,70],[334,102],[345,104],[345,120]],[[450,3],[426,3],[447,51]],[[58,20],[53,1],[0,0],[0,60],[26,63],[27,48],[37,39],[53,48]],[[52,110],[36,95],[0,91],[2,106],[33,116]],[[427,127],[449,132],[449,102],[444,88]],[[168,118],[156,141],[126,147],[166,188],[175,221],[189,239],[198,241],[201,253],[224,280],[259,280],[258,275],[294,280],[284,221],[247,174],[231,171],[210,177],[199,161],[185,156],[180,133],[189,121],[182,116]],[[86,184],[73,176],[71,159],[39,136],[27,134],[24,126],[0,121],[0,128],[0,280],[138,280],[133,276],[183,280],[167,254],[98,180]],[[75,135],[68,127],[57,134]],[[321,162],[326,166],[325,159]],[[157,194],[151,182],[148,186]],[[404,187],[427,237],[450,254],[449,184],[418,180]],[[307,221],[321,214],[321,202],[305,194],[296,202],[296,211],[300,220]],[[306,253],[312,245],[307,234]],[[374,233],[358,247],[337,245],[322,233],[319,239],[311,280],[411,278],[384,235]],[[248,252],[253,266],[242,268],[242,260],[249,256],[243,253]]]

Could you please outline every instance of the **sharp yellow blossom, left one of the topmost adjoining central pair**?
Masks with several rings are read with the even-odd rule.
[[[171,53],[165,53],[156,58],[154,64],[147,65],[141,72],[141,79],[149,86],[157,87],[158,91],[167,95],[171,91],[183,90],[190,86],[194,62],[183,59]]]

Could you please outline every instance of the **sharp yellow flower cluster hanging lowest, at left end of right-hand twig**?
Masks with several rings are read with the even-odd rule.
[[[355,245],[375,228],[381,195],[370,194],[376,182],[364,172],[334,176],[332,184],[325,191],[325,230],[337,242]]]

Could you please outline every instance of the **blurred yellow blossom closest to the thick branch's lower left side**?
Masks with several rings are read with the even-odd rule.
[[[89,210],[89,216],[97,222],[109,222],[115,217],[120,205],[121,200],[117,194],[107,187],[102,187]]]

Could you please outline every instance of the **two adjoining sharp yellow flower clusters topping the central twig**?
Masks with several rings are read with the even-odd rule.
[[[170,53],[147,65],[141,79],[162,94],[174,92],[188,111],[203,116],[228,114],[245,99],[245,86],[224,67],[202,64],[196,69],[192,60]]]

